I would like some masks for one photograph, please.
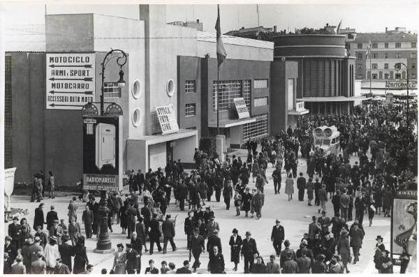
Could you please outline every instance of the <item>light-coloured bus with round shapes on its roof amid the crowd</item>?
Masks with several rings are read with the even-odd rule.
[[[336,126],[321,126],[313,131],[314,147],[321,148],[325,153],[337,154],[340,149],[340,132]]]

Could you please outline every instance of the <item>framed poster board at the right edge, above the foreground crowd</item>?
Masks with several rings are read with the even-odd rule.
[[[392,204],[391,255],[402,254],[403,247],[416,249],[416,225],[418,220],[418,192],[416,190],[397,191]],[[410,253],[412,254],[412,253]],[[399,260],[395,259],[396,264]]]

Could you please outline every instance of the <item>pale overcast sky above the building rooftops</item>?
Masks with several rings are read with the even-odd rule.
[[[294,31],[303,27],[322,28],[326,23],[339,24],[341,27],[355,28],[358,32],[383,32],[385,27],[406,27],[418,30],[417,15],[419,1],[416,0],[352,0],[351,3],[335,0],[335,3],[313,4],[260,4],[259,22],[263,27],[277,25],[278,30]],[[346,2],[346,3],[338,3]],[[53,1],[57,3],[57,1]],[[138,19],[139,8],[135,4],[124,5],[57,5],[49,3],[47,14],[60,13],[101,13]],[[241,27],[257,27],[258,13],[256,4],[234,4],[220,6],[221,29],[223,33]],[[42,3],[0,1],[0,15],[6,26],[16,24],[44,24],[45,5]],[[168,5],[167,22],[197,20],[203,22],[204,31],[214,32],[216,22],[216,5]]]

